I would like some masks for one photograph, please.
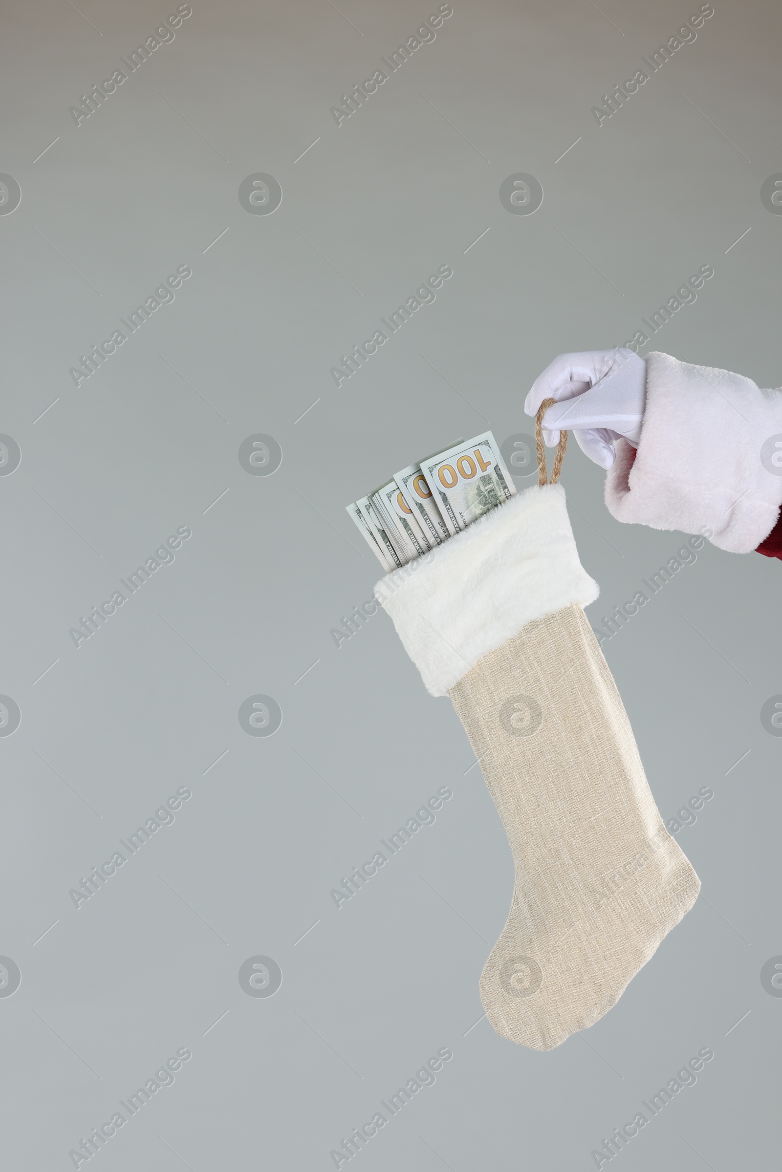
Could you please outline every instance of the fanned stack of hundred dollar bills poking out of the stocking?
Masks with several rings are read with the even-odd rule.
[[[390,573],[516,496],[491,431],[410,464],[347,511]]]

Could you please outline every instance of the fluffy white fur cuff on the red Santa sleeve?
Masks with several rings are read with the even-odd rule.
[[[782,504],[782,476],[763,444],[782,435],[782,390],[761,390],[728,370],[646,356],[646,408],[635,451],[617,441],[605,503],[617,520],[685,533],[749,553],[768,537]]]

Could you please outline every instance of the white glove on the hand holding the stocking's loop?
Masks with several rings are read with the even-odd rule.
[[[532,383],[524,401],[537,415],[544,398],[556,398],[543,416],[546,447],[559,443],[559,429],[572,430],[585,456],[611,468],[617,458],[612,441],[628,440],[637,448],[646,403],[646,362],[626,348],[560,354]]]

